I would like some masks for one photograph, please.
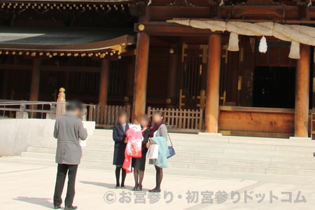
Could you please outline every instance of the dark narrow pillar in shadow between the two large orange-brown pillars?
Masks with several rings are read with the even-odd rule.
[[[176,71],[178,61],[178,50],[175,50],[174,48],[169,49],[169,69],[167,73],[167,106],[169,106],[169,108],[175,108],[177,87]]]

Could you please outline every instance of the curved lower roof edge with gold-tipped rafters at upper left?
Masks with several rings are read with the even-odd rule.
[[[60,30],[60,29],[59,29]],[[113,54],[122,54],[127,52],[128,48],[131,45],[136,43],[136,38],[133,34],[123,34],[123,31],[114,32],[114,35],[111,34],[111,30],[108,29],[106,36],[106,31],[99,31],[99,35],[95,36],[95,34],[91,34],[91,36],[95,36],[95,40],[93,38],[85,39],[85,36],[88,38],[88,32],[85,31],[85,34],[80,34],[80,31],[76,31],[76,33],[70,34],[73,39],[78,39],[77,42],[68,42],[69,40],[69,32],[67,34],[62,34],[62,32],[54,33],[54,34],[34,34],[34,36],[21,36],[21,38],[13,39],[6,41],[6,37],[10,34],[1,33],[0,32],[0,54],[13,54],[13,55],[81,55],[81,56],[99,56],[104,57],[105,55],[113,55]],[[62,30],[61,30],[62,31]],[[29,33],[29,32],[28,32]],[[37,32],[38,33],[38,32]],[[13,36],[19,36],[18,33],[12,33]],[[1,40],[2,36],[2,40]],[[44,39],[43,39],[44,36]],[[47,37],[45,37],[47,36]],[[82,38],[80,37],[82,36]],[[100,39],[100,37],[104,36],[104,38]],[[4,37],[4,41],[3,41]],[[49,42],[50,37],[53,37],[53,40],[62,40],[59,43]],[[68,38],[68,39],[67,39]],[[27,39],[30,39],[28,41]],[[38,41],[37,41],[38,40]],[[47,43],[45,43],[47,41]]]

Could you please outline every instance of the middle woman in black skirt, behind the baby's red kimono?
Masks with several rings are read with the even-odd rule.
[[[142,136],[144,140],[142,141],[141,148],[141,158],[132,158],[132,167],[134,167],[134,189],[135,191],[142,190],[142,181],[144,180],[144,169],[146,167],[146,152],[148,152],[148,148],[146,148],[146,144],[148,143],[148,138],[150,135],[150,118],[146,114],[142,115],[140,118],[141,128],[142,128]]]

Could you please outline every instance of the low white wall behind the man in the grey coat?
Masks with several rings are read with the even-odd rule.
[[[95,122],[83,122],[89,135],[95,130]],[[29,146],[56,146],[52,136],[55,120],[3,119],[0,120],[0,156],[20,155]]]

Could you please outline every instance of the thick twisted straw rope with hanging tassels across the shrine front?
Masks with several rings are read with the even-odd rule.
[[[311,2],[311,1],[310,1]],[[228,50],[239,50],[238,35],[245,36],[274,36],[282,41],[290,41],[290,58],[300,58],[300,43],[315,46],[315,28],[303,25],[282,25],[274,22],[225,22],[221,20],[202,19],[173,19],[167,22],[174,22],[180,25],[187,25],[199,29],[210,29],[211,31],[229,31],[230,43]],[[265,52],[265,40],[261,40],[261,52]]]

